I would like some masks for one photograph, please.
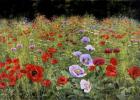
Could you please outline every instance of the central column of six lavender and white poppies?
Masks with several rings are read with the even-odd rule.
[[[90,39],[88,37],[83,37],[81,39],[81,42],[86,44],[86,47],[85,47],[86,50],[95,51],[95,48],[92,45],[88,45],[88,43],[90,42]],[[84,66],[87,66],[86,68],[94,65],[90,54],[83,54],[80,51],[75,51],[72,54],[78,57],[80,63]],[[79,65],[69,66],[69,72],[73,77],[77,77],[77,78],[81,78],[87,75],[84,68],[80,67]],[[81,86],[81,89],[83,89],[85,93],[89,93],[91,90],[91,83],[84,79],[80,81],[80,86]]]

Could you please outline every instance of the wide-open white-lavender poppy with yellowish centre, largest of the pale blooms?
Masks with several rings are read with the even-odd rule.
[[[72,65],[69,67],[69,72],[73,77],[84,77],[86,75],[83,68],[79,65]]]

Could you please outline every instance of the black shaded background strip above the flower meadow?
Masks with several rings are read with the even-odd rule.
[[[140,20],[139,0],[0,0],[0,18],[47,18],[90,14],[98,19],[128,16]]]

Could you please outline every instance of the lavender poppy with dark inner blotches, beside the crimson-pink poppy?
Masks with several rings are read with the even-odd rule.
[[[91,66],[93,65],[92,58],[89,54],[82,54],[80,56],[80,62],[85,66]]]

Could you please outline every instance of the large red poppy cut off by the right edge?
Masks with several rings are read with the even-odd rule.
[[[140,67],[133,66],[128,69],[128,74],[133,78],[136,79],[137,77],[140,77]]]

